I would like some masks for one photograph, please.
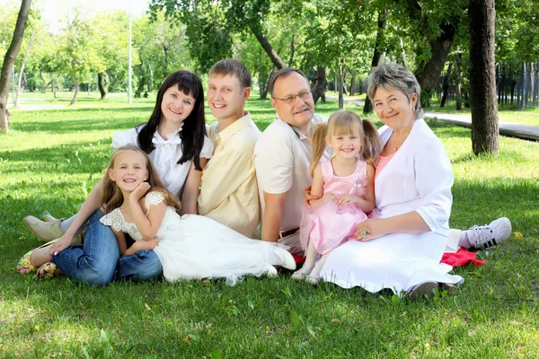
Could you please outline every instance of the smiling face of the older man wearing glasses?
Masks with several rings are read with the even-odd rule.
[[[292,103],[278,100],[302,92],[309,92],[309,96],[305,100],[302,100],[299,96],[296,96],[295,101]],[[277,111],[278,118],[300,130],[308,126],[314,116],[314,100],[311,87],[305,77],[296,72],[278,77],[271,94],[271,105]]]

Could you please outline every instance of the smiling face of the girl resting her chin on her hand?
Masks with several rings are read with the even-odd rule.
[[[132,192],[148,179],[146,157],[136,151],[119,153],[114,167],[109,169],[109,177],[122,191]]]

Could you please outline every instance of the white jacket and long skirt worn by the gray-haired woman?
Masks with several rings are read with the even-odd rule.
[[[392,130],[378,131],[387,142]],[[344,288],[384,288],[402,294],[434,281],[457,284],[461,276],[440,263],[449,232],[453,171],[443,144],[422,118],[384,169],[376,176],[376,209],[369,217],[387,218],[417,212],[430,232],[387,234],[372,241],[348,241],[328,256],[321,276]]]

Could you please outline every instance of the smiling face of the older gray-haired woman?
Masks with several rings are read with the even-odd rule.
[[[373,96],[376,116],[394,131],[408,129],[413,125],[416,119],[413,109],[417,101],[417,93],[413,93],[409,101],[404,93],[394,87],[378,87]]]

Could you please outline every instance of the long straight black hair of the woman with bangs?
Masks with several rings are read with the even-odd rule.
[[[195,168],[202,171],[200,167],[200,152],[204,146],[204,136],[206,135],[206,119],[204,118],[204,89],[200,82],[199,76],[192,74],[189,71],[177,71],[169,75],[159,87],[157,98],[155,99],[154,112],[146,124],[141,124],[137,127],[138,146],[145,152],[151,153],[155,150],[154,138],[157,127],[161,124],[163,111],[161,103],[163,95],[172,86],[177,86],[181,92],[192,96],[195,99],[195,105],[190,115],[183,120],[183,125],[178,136],[181,138],[181,158],[178,159],[178,164],[192,160]],[[144,126],[146,125],[146,126]]]

